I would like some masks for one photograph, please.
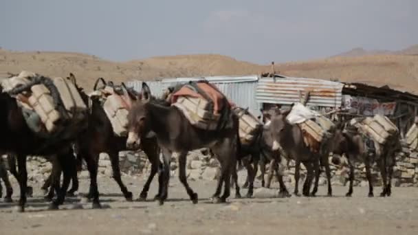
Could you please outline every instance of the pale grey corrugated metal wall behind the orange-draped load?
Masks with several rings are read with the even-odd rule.
[[[228,79],[230,77],[227,77]],[[201,78],[202,79],[202,78]],[[190,79],[194,80],[194,79]],[[237,106],[248,108],[248,110],[253,115],[261,115],[260,109],[261,104],[257,102],[256,100],[256,87],[257,82],[256,79],[251,79],[248,82],[225,82],[225,80],[217,80],[217,81],[211,81],[212,84],[216,85],[219,90],[225,94],[232,102],[234,102]],[[166,80],[168,82],[162,81],[152,81],[152,82],[146,82],[148,87],[150,87],[151,92],[153,92],[154,96],[161,96],[164,89],[167,89],[170,86],[175,86],[179,83],[184,83],[186,80],[181,80],[179,82],[173,82],[173,79]],[[229,80],[228,80],[229,81]],[[129,87],[133,87],[135,91],[141,91],[142,87],[142,81],[135,80],[128,82],[127,85]]]

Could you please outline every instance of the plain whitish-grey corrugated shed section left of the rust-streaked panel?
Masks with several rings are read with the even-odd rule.
[[[232,102],[239,107],[248,108],[254,115],[261,115],[261,104],[256,100],[256,87],[259,77],[253,76],[210,76],[197,78],[166,78],[157,81],[146,81],[154,96],[161,96],[164,89],[193,80],[208,80],[216,85]],[[142,81],[128,82],[129,87],[140,91]]]

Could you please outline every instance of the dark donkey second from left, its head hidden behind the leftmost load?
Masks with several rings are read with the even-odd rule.
[[[70,74],[70,79],[72,79],[74,84],[76,84],[76,78],[74,74]],[[95,90],[99,81],[101,81],[103,85],[113,85],[113,82],[105,82],[103,78],[98,78],[98,80],[96,80],[96,84],[94,85]],[[78,87],[78,85],[76,85],[76,87]],[[81,87],[78,87],[78,89],[82,94],[82,98],[86,105],[90,103],[87,130],[85,130],[85,132],[83,132],[83,134],[80,135],[75,142],[78,160],[81,161],[84,159],[87,164],[87,170],[89,170],[91,182],[89,193],[87,194],[87,199],[93,199],[94,208],[101,207],[98,198],[97,185],[98,157],[100,153],[107,153],[111,161],[113,179],[115,179],[116,183],[118,183],[118,186],[124,194],[125,199],[127,201],[132,201],[133,194],[122,182],[119,166],[118,153],[122,150],[126,150],[126,137],[118,137],[114,135],[113,127],[111,126],[109,117],[107,117],[107,114],[104,112],[104,109],[99,100],[96,98],[89,98],[89,96],[87,96]],[[129,92],[131,98],[136,98],[131,89],[126,90]],[[139,147],[144,150],[148,160],[151,162],[151,173],[144,185],[144,188],[142,189],[142,192],[139,195],[139,198],[137,199],[138,201],[145,201],[153,177],[155,177],[155,174],[157,173],[158,167],[160,165],[159,146],[155,137],[147,136],[142,139],[142,144]],[[155,197],[158,197],[158,195]]]

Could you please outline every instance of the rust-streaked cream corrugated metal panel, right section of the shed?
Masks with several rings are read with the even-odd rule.
[[[260,103],[292,104],[299,102],[299,93],[304,95],[310,91],[307,106],[311,107],[341,107],[341,82],[315,78],[292,78],[276,76],[260,78],[256,89],[256,100]]]

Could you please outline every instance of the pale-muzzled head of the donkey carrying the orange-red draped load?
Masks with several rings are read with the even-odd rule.
[[[142,91],[137,100],[133,102],[128,114],[128,139],[126,148],[136,149],[140,147],[141,137],[146,137],[151,132],[149,120],[148,102],[151,100],[151,89],[142,82]]]

